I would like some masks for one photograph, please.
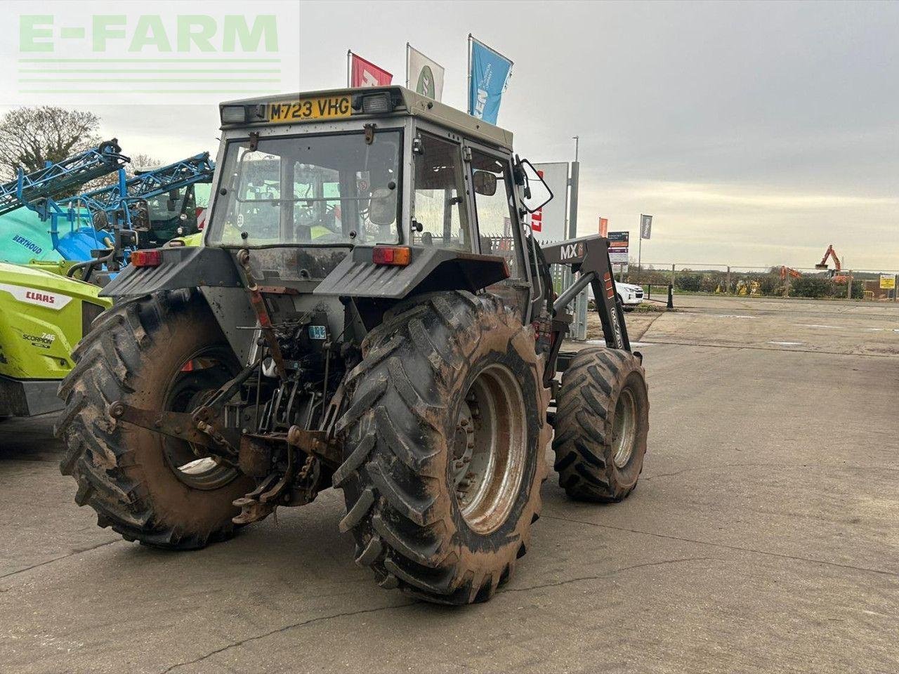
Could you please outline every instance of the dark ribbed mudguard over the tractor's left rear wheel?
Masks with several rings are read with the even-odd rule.
[[[102,297],[147,295],[179,288],[240,288],[240,275],[225,248],[177,246],[161,248],[157,267],[129,264],[100,293]]]

